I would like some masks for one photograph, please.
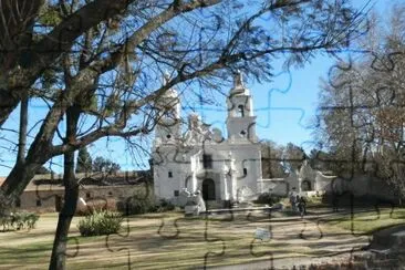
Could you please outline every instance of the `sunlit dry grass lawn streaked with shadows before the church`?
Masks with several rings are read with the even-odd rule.
[[[325,256],[362,246],[377,227],[404,222],[405,209],[326,217],[264,214],[185,218],[179,212],[149,214],[126,218],[120,235],[81,237],[74,218],[68,242],[68,269],[191,269],[237,264],[271,257]],[[322,220],[318,222],[316,220]],[[373,220],[371,222],[371,220]],[[0,269],[46,269],[58,215],[41,215],[31,231],[0,232]],[[319,224],[319,225],[316,225]],[[255,239],[257,228],[272,232],[270,241]],[[305,238],[302,239],[302,236]]]

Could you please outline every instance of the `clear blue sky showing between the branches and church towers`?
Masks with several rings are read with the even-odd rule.
[[[353,0],[357,7],[367,2],[366,0]],[[376,9],[380,12],[387,11],[393,3],[390,0],[375,0]],[[395,1],[394,1],[395,2]],[[305,150],[313,148],[311,129],[308,128],[310,121],[315,115],[319,95],[320,77],[328,77],[328,71],[333,65],[334,59],[326,55],[318,55],[303,69],[291,69],[290,72],[283,71],[281,60],[274,62],[276,76],[270,83],[252,83],[247,81],[247,86],[253,95],[253,107],[257,115],[257,133],[261,139],[271,139],[280,145],[291,142],[303,146]],[[225,90],[227,91],[227,90]],[[218,101],[225,104],[224,101]],[[31,103],[31,117],[41,118],[45,113],[41,107]],[[225,131],[226,108],[218,107],[214,111],[199,112],[204,115],[204,121]],[[7,122],[7,126],[18,126],[18,113],[13,113]],[[225,132],[224,132],[225,133]],[[10,136],[10,134],[8,135]],[[15,135],[17,136],[17,135]],[[122,169],[146,168],[147,155],[142,155],[134,159],[122,141],[117,138],[102,139],[90,147],[93,158],[102,155],[121,164]],[[0,149],[0,176],[7,175],[9,166],[13,165],[14,155]],[[48,164],[56,172],[61,172],[63,164],[62,157],[55,157],[52,165]]]

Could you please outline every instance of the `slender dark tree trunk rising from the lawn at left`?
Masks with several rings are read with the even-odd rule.
[[[66,111],[66,143],[76,136],[80,110],[70,107]],[[74,174],[74,152],[64,154],[64,204],[59,214],[55,239],[53,241],[52,255],[49,269],[65,269],[66,243],[69,228],[71,226],[79,199],[79,183]]]

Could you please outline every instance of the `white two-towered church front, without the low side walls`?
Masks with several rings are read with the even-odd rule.
[[[152,149],[155,197],[176,201],[187,189],[201,191],[207,201],[240,202],[262,193],[252,96],[242,75],[235,76],[227,97],[227,137],[197,114],[188,116],[183,133],[180,102],[177,91],[170,89],[155,104],[165,112]]]

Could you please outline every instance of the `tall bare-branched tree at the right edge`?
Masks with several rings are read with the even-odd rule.
[[[405,194],[405,4],[384,23],[373,14],[360,40],[367,53],[338,63],[323,82],[315,134],[330,152],[329,163],[351,178],[373,174]]]

